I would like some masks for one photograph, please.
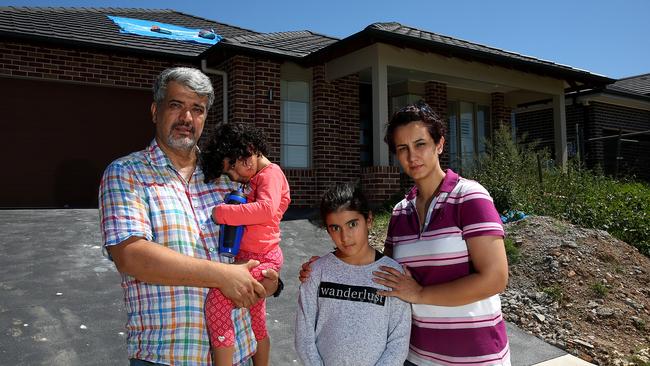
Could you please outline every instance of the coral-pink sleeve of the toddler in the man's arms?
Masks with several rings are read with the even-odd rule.
[[[271,220],[280,207],[282,187],[286,178],[282,170],[267,168],[260,172],[257,179],[255,202],[215,206],[212,210],[212,218],[217,224],[255,225]]]

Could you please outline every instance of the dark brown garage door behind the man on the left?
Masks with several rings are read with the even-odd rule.
[[[153,138],[151,92],[0,78],[0,207],[97,207],[113,159]]]

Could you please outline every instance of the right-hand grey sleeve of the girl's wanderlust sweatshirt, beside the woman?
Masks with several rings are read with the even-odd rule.
[[[411,304],[389,297],[390,318],[386,348],[375,365],[402,366],[408,356],[411,338]]]

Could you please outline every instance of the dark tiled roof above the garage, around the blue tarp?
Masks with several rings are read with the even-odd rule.
[[[0,36],[82,43],[182,57],[198,56],[210,47],[208,44],[120,33],[120,28],[108,15],[188,28],[213,28],[224,38],[256,34],[169,9],[0,7]]]

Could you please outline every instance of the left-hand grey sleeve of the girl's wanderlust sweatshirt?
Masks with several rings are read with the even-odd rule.
[[[300,285],[295,324],[295,347],[298,358],[305,366],[323,365],[316,348],[317,295],[320,271],[314,268],[309,279]]]

